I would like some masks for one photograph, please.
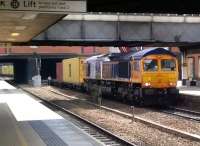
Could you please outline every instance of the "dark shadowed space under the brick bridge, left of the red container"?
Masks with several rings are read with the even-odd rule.
[[[74,56],[76,55],[9,55],[0,56],[0,63],[13,63],[14,81],[16,83],[31,83],[32,77],[38,74],[41,75],[43,80],[46,80],[49,75],[56,78],[56,63]],[[38,59],[41,60],[40,65],[37,62]]]

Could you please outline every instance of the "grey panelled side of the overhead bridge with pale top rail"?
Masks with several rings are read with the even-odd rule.
[[[195,46],[199,36],[194,16],[71,15],[21,45]]]

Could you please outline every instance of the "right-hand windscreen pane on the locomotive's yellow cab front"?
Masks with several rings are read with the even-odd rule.
[[[173,59],[164,59],[161,60],[161,70],[162,71],[175,71],[176,63]]]

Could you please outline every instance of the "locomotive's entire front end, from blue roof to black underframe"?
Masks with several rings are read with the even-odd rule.
[[[140,87],[140,92],[136,92],[136,95],[139,93],[139,100],[171,104],[179,93],[177,80],[178,62],[170,51],[149,49],[133,56],[131,82]]]

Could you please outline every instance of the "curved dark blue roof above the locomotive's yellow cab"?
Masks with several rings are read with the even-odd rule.
[[[142,50],[142,51],[139,51],[139,52],[131,52],[131,53],[128,53],[126,55],[124,55],[121,59],[122,60],[129,60],[131,57],[133,57],[134,59],[136,60],[139,60],[145,56],[148,56],[148,55],[156,55],[156,54],[168,54],[168,55],[171,55],[171,56],[176,56],[174,53],[172,53],[171,51],[168,51],[164,48],[149,48],[149,49],[145,49],[145,50]]]

